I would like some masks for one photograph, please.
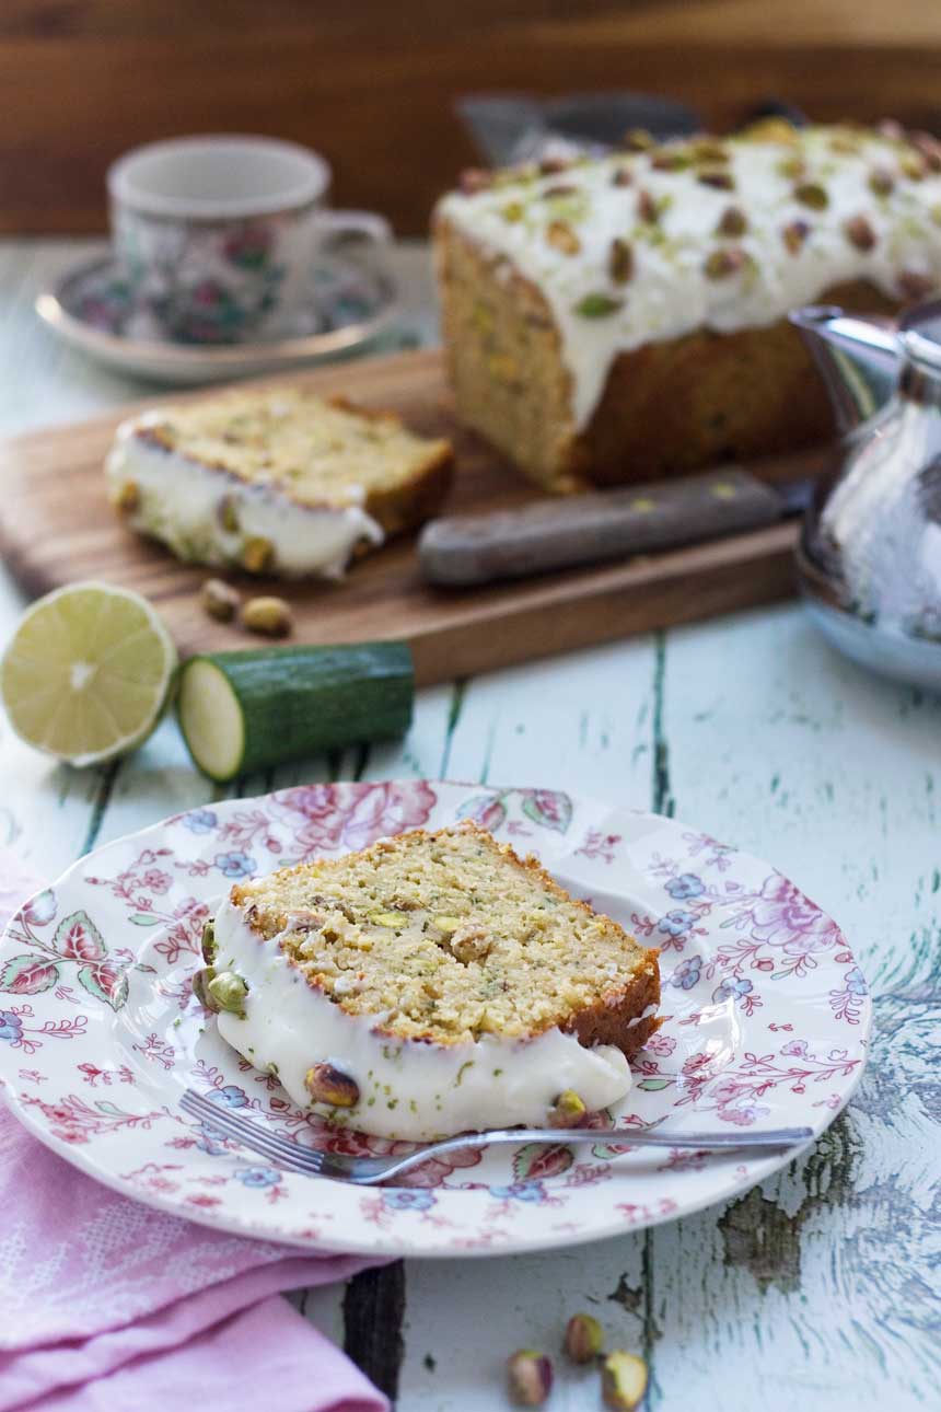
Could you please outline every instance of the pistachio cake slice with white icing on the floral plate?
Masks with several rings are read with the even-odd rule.
[[[659,1022],[657,953],[473,823],[236,884],[205,949],[223,1039],[381,1137],[573,1125]]]

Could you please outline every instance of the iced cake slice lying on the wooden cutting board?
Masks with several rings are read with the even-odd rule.
[[[437,510],[451,449],[391,414],[275,387],[135,417],[106,469],[126,522],[179,559],[337,578]]]

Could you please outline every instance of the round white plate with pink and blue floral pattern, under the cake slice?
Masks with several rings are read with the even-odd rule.
[[[473,818],[662,947],[663,1028],[594,1147],[451,1154],[356,1189],[264,1165],[179,1110],[188,1086],[306,1145],[324,1130],[216,1035],[190,993],[236,878]],[[550,789],[405,781],[285,789],[193,809],[82,858],[0,943],[0,1077],[17,1117],[128,1196],[324,1250],[453,1255],[569,1245],[745,1190],[783,1156],[622,1152],[633,1125],[822,1132],[866,1056],[866,984],[838,926],[766,863],[672,819]]]

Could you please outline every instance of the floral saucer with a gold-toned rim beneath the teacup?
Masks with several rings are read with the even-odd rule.
[[[277,373],[370,343],[395,318],[392,280],[354,261],[323,261],[310,297],[277,336],[178,343],[140,306],[111,256],[86,260],[37,298],[40,318],[66,343],[120,373],[159,383],[214,383]]]

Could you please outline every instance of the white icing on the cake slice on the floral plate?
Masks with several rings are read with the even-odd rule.
[[[436,1045],[375,1034],[382,1017],[350,1015],[308,984],[278,938],[261,940],[227,898],[216,915],[216,966],[248,983],[245,1018],[220,1014],[219,1032],[257,1069],[275,1065],[293,1101],[310,1107],[303,1084],[313,1063],[330,1063],[360,1086],[343,1110],[350,1127],[377,1137],[429,1141],[478,1128],[543,1125],[553,1101],[574,1089],[588,1108],[605,1108],[631,1089],[619,1049],[587,1049],[549,1029],[535,1039]]]

